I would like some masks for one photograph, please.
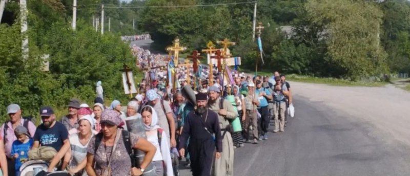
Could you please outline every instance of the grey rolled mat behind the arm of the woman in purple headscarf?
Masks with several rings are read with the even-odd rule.
[[[139,138],[147,139],[147,135],[145,134],[145,127],[142,124],[141,116],[131,116],[125,119],[127,124],[127,129],[130,133],[136,134]],[[144,160],[145,152],[142,150],[134,149],[134,157],[137,159],[135,160],[136,166],[139,166]],[[145,168],[144,176],[156,176],[155,167],[152,163],[150,163],[147,168]]]

